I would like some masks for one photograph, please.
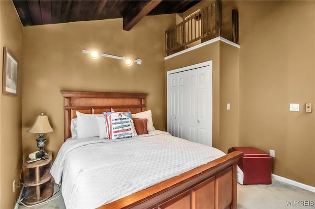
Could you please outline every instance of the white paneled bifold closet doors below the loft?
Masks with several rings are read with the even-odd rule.
[[[212,146],[212,65],[168,75],[168,131]]]

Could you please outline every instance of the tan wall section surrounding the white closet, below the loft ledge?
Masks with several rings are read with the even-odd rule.
[[[165,70],[213,60],[212,144],[227,153],[238,145],[239,131],[239,49],[221,41],[165,60]],[[226,104],[231,109],[226,110]]]

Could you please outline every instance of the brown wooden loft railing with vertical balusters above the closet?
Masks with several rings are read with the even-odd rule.
[[[234,12],[233,12],[234,11]],[[238,13],[232,11],[233,41],[238,42]],[[217,0],[200,9],[182,23],[165,31],[166,56],[188,48],[188,45],[202,40],[221,36],[222,6]]]

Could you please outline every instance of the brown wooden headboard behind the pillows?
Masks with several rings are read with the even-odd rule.
[[[71,137],[71,119],[76,118],[76,111],[88,114],[100,114],[114,111],[145,111],[146,93],[115,93],[91,91],[61,91],[64,109],[64,141]]]

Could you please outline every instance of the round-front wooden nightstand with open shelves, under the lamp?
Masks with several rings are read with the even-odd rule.
[[[50,175],[52,153],[47,152],[46,160],[41,159],[28,163],[27,158],[23,164],[28,169],[24,178],[24,200],[23,203],[33,205],[44,202],[53,195],[53,183]]]

